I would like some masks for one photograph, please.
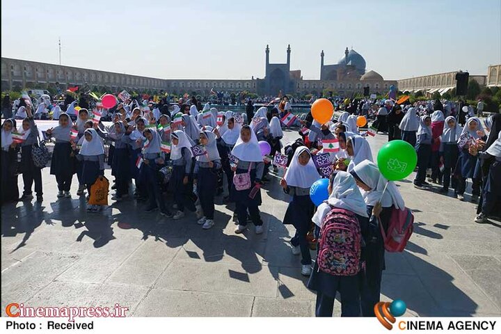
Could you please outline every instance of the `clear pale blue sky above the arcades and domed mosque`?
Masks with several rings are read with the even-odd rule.
[[[346,47],[385,79],[501,63],[501,0],[1,1],[1,56],[163,79],[319,79]]]

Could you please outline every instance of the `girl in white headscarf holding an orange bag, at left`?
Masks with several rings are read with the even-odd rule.
[[[77,159],[82,164],[81,184],[87,187],[90,195],[90,186],[95,183],[97,177],[104,175],[104,146],[95,129],[86,129],[83,138]],[[73,145],[76,148],[76,144]],[[87,212],[99,212],[101,209],[101,205],[87,206]]]

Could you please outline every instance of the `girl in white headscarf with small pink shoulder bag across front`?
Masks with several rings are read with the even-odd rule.
[[[255,225],[256,234],[262,234],[262,220],[259,207],[261,205],[260,180],[264,170],[263,158],[257,137],[248,125],[244,125],[240,130],[240,136],[235,143],[231,154],[238,159],[236,167],[232,168],[235,178],[245,180],[244,174],[250,175],[250,187],[248,189],[237,190],[232,185],[231,196],[236,204],[238,228],[235,233],[239,234],[247,228],[247,212]],[[242,182],[246,183],[246,182]]]

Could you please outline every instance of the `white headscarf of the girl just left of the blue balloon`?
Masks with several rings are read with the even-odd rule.
[[[303,152],[308,152],[310,160],[308,164],[303,166],[299,164],[299,154]],[[294,157],[285,172],[284,179],[288,186],[299,186],[299,188],[310,188],[313,182],[319,180],[320,175],[313,163],[313,158],[311,156],[310,150],[305,146],[299,146],[294,152]]]

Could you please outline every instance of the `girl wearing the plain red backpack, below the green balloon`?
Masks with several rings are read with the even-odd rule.
[[[360,292],[360,302],[362,316],[374,317],[374,305],[379,303],[381,279],[385,269],[381,227],[385,232],[388,231],[392,210],[404,209],[405,203],[395,183],[388,182],[372,161],[362,161],[353,168],[351,175],[355,177],[356,183],[363,190],[367,213],[371,214],[367,233],[364,236],[365,280]]]

